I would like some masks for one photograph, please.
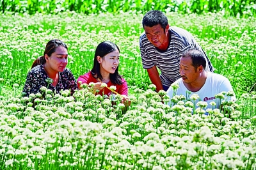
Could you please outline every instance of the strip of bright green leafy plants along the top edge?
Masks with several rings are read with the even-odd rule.
[[[163,10],[165,12],[205,13],[223,12],[227,15],[249,17],[256,16],[254,0],[1,0],[1,12],[27,12],[34,14],[58,13],[63,11],[79,13],[144,13],[148,10]]]

